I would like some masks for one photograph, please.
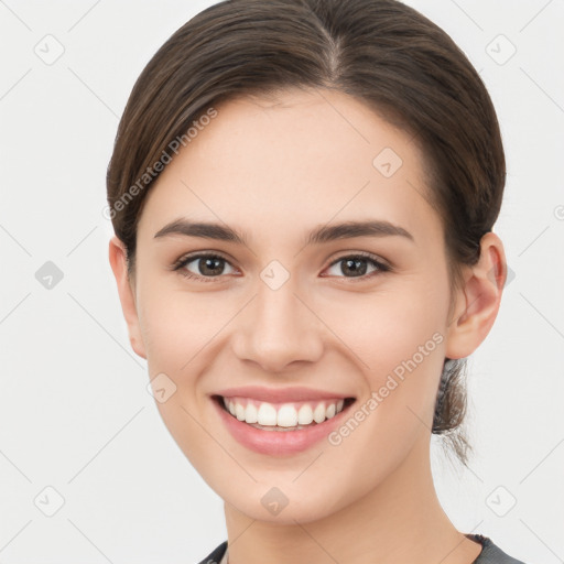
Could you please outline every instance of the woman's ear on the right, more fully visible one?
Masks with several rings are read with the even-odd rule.
[[[492,231],[480,240],[480,258],[468,267],[448,321],[445,356],[464,358],[478,348],[496,321],[507,279],[503,243]]]

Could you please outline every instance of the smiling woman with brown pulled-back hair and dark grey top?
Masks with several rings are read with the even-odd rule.
[[[444,513],[465,358],[507,276],[491,100],[393,0],[220,2],[139,77],[110,263],[174,440],[225,500],[203,562],[518,563]]]

